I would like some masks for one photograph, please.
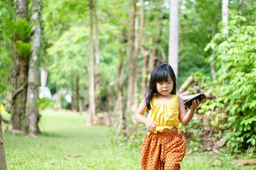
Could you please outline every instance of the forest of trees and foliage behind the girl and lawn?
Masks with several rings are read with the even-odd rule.
[[[254,0],[2,0],[5,133],[38,136],[41,111],[70,109],[87,115],[88,127],[113,127],[114,143],[137,148],[145,127],[133,115],[151,70],[169,63],[184,101],[207,95],[182,126],[189,153],[253,158],[255,11]]]

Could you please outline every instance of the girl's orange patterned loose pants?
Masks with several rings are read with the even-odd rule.
[[[185,156],[186,139],[177,131],[151,133],[141,144],[142,170],[180,170]]]

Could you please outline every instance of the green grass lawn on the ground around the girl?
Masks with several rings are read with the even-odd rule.
[[[8,170],[140,170],[140,151],[109,142],[108,127],[86,127],[86,116],[68,111],[41,114],[37,138],[3,134]],[[215,159],[223,165],[213,166]],[[232,160],[227,154],[186,155],[181,170],[256,170],[225,163]]]

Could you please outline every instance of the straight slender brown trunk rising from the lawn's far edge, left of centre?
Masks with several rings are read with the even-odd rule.
[[[89,61],[89,111],[90,116],[96,117],[94,98],[94,57],[93,57],[93,0],[90,0],[90,61]],[[92,125],[94,122],[91,122]]]

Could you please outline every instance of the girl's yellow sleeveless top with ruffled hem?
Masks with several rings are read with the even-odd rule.
[[[158,123],[154,133],[157,133],[157,131],[162,132],[165,128],[172,129],[172,127],[176,127],[178,133],[180,133],[178,97],[178,95],[173,94],[167,102],[160,102],[155,95],[153,96],[151,99],[151,110],[148,112],[148,119]]]

